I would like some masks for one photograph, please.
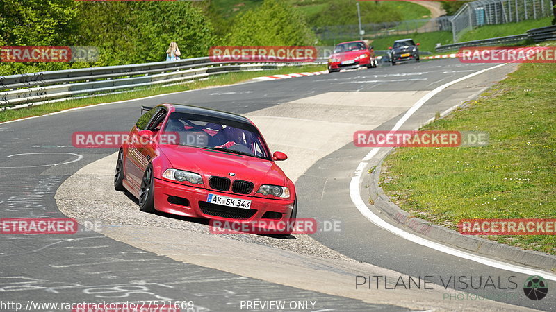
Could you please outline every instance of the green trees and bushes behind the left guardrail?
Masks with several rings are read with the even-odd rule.
[[[233,19],[214,13],[212,0],[88,2],[0,0],[0,46],[96,46],[95,63],[0,63],[0,74],[136,64],[165,60],[170,42],[181,58],[206,56],[215,45],[312,45],[304,17],[281,0]]]

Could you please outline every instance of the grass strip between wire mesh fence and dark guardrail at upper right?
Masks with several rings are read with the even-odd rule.
[[[519,35],[522,33],[527,33],[527,31],[532,28],[550,26],[550,21],[552,21],[552,17],[545,17],[543,19],[531,19],[528,21],[520,21],[518,23],[482,26],[468,31],[464,33],[464,35],[461,35],[461,37],[459,38],[459,42]]]

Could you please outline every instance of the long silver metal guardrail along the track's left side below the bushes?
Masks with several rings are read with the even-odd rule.
[[[221,73],[262,71],[281,67],[323,64],[325,58],[299,63],[222,63],[209,58],[176,62],[153,62],[64,71],[44,71],[0,77],[0,111],[43,103],[65,101],[138,87],[176,85]]]

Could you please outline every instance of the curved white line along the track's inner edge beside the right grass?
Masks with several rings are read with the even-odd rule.
[[[419,107],[423,106],[423,104],[425,104],[427,101],[429,101],[430,98],[432,98],[436,94],[439,94],[439,92],[441,92],[443,89],[445,89],[447,87],[450,87],[451,85],[454,85],[455,83],[459,83],[462,80],[466,80],[468,78],[480,75],[481,73],[484,73],[485,71],[489,71],[491,69],[496,69],[496,68],[502,67],[504,65],[505,64],[499,64],[499,65],[496,65],[494,67],[489,67],[487,69],[482,69],[480,71],[476,71],[475,73],[471,73],[471,74],[469,74],[467,76],[464,76],[462,78],[452,80],[452,81],[450,81],[450,83],[445,83],[444,85],[441,85],[440,87],[436,87],[436,89],[427,93],[425,96],[423,96],[423,98],[420,98],[419,101],[417,101],[413,106],[411,106],[411,108],[404,114],[404,116],[402,116],[402,118],[397,123],[395,123],[395,125],[394,125],[394,127],[392,128],[391,131],[395,131],[395,130],[400,129],[400,127],[407,121],[407,119],[409,119],[409,117],[411,117],[411,115],[413,115],[419,109]],[[365,218],[370,220],[370,222],[374,223],[378,227],[382,227],[382,229],[386,229],[386,231],[389,231],[393,234],[396,234],[396,235],[402,237],[403,239],[407,239],[408,241],[412,241],[412,242],[417,243],[419,245],[423,245],[425,247],[432,248],[434,250],[438,250],[439,252],[444,252],[445,254],[451,254],[452,256],[455,256],[455,257],[468,259],[468,260],[471,260],[471,261],[475,261],[477,263],[482,263],[485,266],[491,266],[493,268],[499,268],[499,269],[502,269],[502,270],[518,272],[518,273],[522,273],[522,274],[525,274],[525,275],[541,275],[542,277],[544,277],[546,279],[556,281],[556,275],[554,275],[550,272],[546,272],[546,271],[543,271],[543,270],[535,270],[535,269],[526,268],[526,267],[523,267],[523,266],[516,266],[516,265],[510,264],[510,263],[505,263],[505,262],[502,262],[502,261],[496,261],[496,260],[489,259],[489,258],[486,258],[486,257],[477,256],[477,255],[471,254],[469,252],[464,252],[464,251],[461,251],[461,250],[457,250],[455,248],[451,248],[451,247],[448,247],[448,246],[440,244],[440,243],[435,243],[434,241],[429,241],[428,239],[423,239],[422,237],[417,236],[415,234],[405,232],[403,229],[400,229],[399,227],[395,227],[394,225],[391,225],[390,223],[387,223],[385,220],[382,220],[382,218],[380,218],[379,216],[374,214],[373,211],[370,211],[370,209],[368,209],[365,202],[361,198],[361,193],[359,191],[359,184],[360,184],[360,181],[361,181],[361,174],[363,173],[363,169],[366,168],[366,166],[368,164],[368,161],[370,159],[372,159],[375,155],[377,155],[378,151],[379,151],[379,148],[373,148],[373,150],[370,150],[370,152],[363,158],[363,161],[360,162],[359,165],[357,166],[357,169],[355,170],[355,174],[352,177],[352,180],[350,182],[350,198],[351,198],[352,202],[354,203],[354,205],[359,210],[359,212]]]

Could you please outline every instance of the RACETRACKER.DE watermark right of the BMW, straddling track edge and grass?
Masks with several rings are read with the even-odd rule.
[[[457,147],[487,146],[489,133],[482,131],[356,131],[353,143],[360,147]]]

